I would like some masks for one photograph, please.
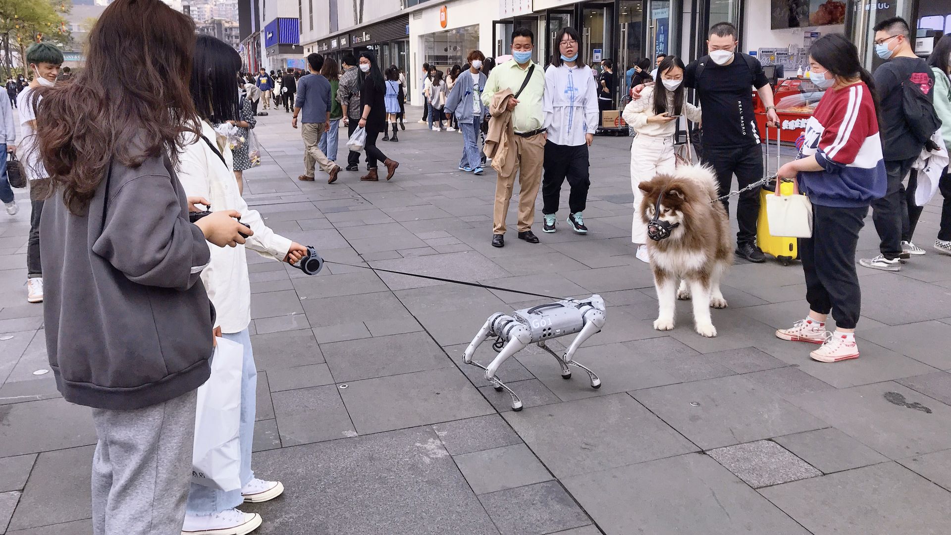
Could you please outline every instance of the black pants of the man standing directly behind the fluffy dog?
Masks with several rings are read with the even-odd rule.
[[[716,173],[718,196],[729,193],[736,175],[736,182],[740,189],[763,178],[763,151],[759,145],[748,148],[720,148],[704,147],[701,160],[711,166]],[[729,199],[724,199],[724,208],[729,213]],[[756,220],[760,215],[760,191],[752,188],[740,194],[736,206],[736,222],[740,230],[736,233],[736,243],[739,245],[756,243]]]

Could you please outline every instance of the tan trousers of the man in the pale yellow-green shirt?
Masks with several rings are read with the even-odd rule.
[[[505,233],[505,217],[509,214],[509,201],[515,184],[515,172],[518,172],[518,231],[532,229],[534,205],[541,185],[542,164],[545,162],[545,135],[532,137],[514,137],[514,146],[509,148],[509,157],[518,158],[512,174],[498,175],[495,182],[495,209],[492,214],[492,233]]]

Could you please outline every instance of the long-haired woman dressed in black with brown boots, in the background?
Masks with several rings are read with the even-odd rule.
[[[386,85],[383,82],[383,73],[377,65],[377,56],[373,52],[366,51],[359,54],[359,69],[366,76],[363,79],[363,87],[359,91],[359,103],[362,108],[359,127],[366,129],[366,143],[364,150],[367,156],[367,173],[361,177],[363,181],[377,181],[377,162],[383,162],[386,167],[386,180],[393,178],[397,172],[399,162],[391,160],[383,154],[383,151],[377,148],[377,138],[380,132],[386,131],[386,106],[383,104],[383,96],[386,93]]]

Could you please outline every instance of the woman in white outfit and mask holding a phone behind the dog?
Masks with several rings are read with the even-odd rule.
[[[641,98],[624,108],[624,120],[636,132],[631,142],[631,189],[634,191],[634,220],[631,242],[638,246],[637,259],[650,262],[647,227],[637,216],[644,194],[638,184],[659,172],[671,172],[676,164],[673,151],[677,120],[686,115],[689,121],[700,122],[700,109],[687,102],[684,94],[684,62],[667,56],[657,68],[654,85],[641,91]]]

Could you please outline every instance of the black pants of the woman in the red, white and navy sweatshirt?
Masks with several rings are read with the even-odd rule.
[[[867,207],[831,208],[812,205],[812,237],[799,241],[809,309],[832,312],[836,327],[855,328],[862,308],[855,248]]]

